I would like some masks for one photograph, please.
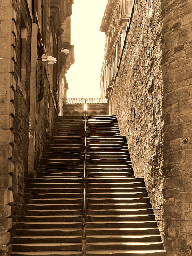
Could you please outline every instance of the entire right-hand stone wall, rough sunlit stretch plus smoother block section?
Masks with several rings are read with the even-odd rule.
[[[110,108],[167,256],[192,255],[191,0],[136,0]]]

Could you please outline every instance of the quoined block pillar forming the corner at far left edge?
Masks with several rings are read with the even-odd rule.
[[[11,204],[13,203],[12,132],[15,109],[13,106],[16,81],[14,50],[17,36],[15,12],[11,1],[2,1],[0,6],[0,255],[10,254],[10,232],[12,228]]]

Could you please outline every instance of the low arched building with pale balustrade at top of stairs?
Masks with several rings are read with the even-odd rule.
[[[87,104],[88,116],[108,115],[108,100],[106,98],[64,98],[63,116],[83,116],[84,104]]]

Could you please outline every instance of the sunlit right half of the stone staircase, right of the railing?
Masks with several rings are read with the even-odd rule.
[[[87,118],[86,255],[165,256],[143,178],[116,116]]]

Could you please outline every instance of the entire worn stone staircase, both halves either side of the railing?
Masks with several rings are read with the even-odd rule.
[[[82,256],[84,117],[58,116],[30,179],[11,256]],[[87,117],[86,255],[166,256],[116,116]]]

